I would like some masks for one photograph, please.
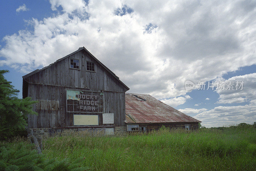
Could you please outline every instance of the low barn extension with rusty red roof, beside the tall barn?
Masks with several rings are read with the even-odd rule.
[[[145,94],[125,93],[125,123],[127,131],[170,128],[197,129],[201,122]]]

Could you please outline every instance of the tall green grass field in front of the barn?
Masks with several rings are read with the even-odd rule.
[[[49,158],[84,157],[93,170],[256,170],[256,129],[160,129],[121,137],[56,136],[44,141]]]

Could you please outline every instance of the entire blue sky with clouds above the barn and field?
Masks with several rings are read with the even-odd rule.
[[[128,92],[202,125],[256,121],[256,2],[4,0],[0,8],[0,68],[17,89],[23,75],[84,46]],[[187,80],[244,87],[187,91]]]

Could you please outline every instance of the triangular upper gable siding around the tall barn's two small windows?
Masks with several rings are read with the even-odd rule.
[[[82,58],[82,56],[84,58]],[[80,70],[69,68],[70,58],[80,60]],[[86,71],[86,61],[94,62],[96,72]],[[100,66],[97,61],[90,56],[90,54],[83,50],[59,62],[53,63],[52,66],[25,78],[25,80],[29,83],[44,85],[58,85],[119,92],[125,92],[128,90],[105,68]]]

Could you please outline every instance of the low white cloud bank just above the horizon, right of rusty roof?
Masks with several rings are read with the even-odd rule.
[[[190,109],[188,109],[188,111],[189,110]],[[206,127],[239,123],[252,124],[256,121],[256,105],[218,106],[212,110],[202,111],[194,116],[194,118],[202,121],[202,125],[205,125]]]

